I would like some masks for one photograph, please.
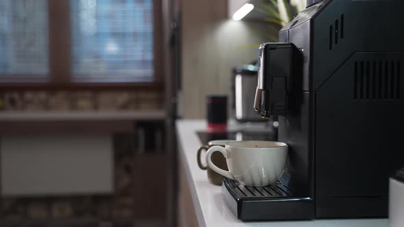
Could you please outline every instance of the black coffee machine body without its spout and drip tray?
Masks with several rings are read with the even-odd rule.
[[[404,164],[404,32],[392,23],[403,7],[324,1],[279,34],[303,59],[279,140],[290,144],[290,176],[314,198],[316,217],[388,213],[388,178]]]

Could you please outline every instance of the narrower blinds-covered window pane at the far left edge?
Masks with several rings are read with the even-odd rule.
[[[0,75],[49,73],[47,0],[0,0]]]

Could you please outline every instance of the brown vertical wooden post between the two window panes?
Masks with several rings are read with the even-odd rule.
[[[71,76],[69,0],[48,0],[49,72],[51,81],[68,82]]]

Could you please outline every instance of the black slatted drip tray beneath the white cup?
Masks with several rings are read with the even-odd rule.
[[[275,185],[249,187],[223,178],[222,191],[229,209],[243,221],[314,219],[312,198],[300,196],[287,182],[280,178]]]

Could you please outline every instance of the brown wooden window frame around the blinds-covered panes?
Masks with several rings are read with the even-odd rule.
[[[121,89],[164,88],[162,77],[162,1],[153,0],[153,81],[103,78],[97,75],[74,79],[71,72],[70,0],[48,1],[49,75],[0,75],[0,88],[12,89]],[[149,77],[144,77],[150,79]]]

